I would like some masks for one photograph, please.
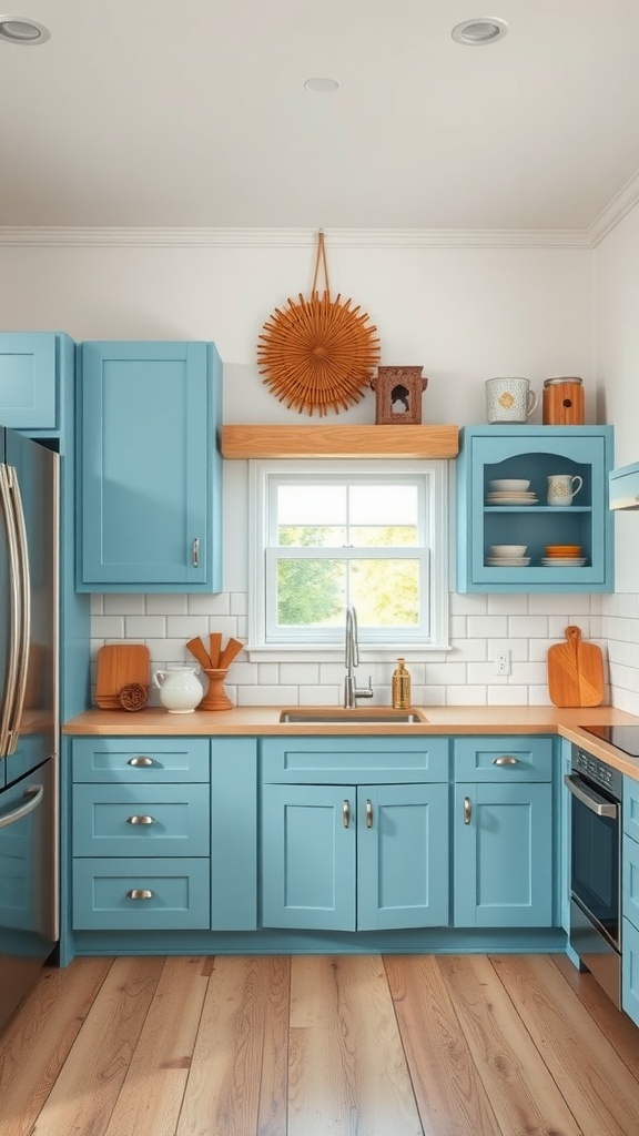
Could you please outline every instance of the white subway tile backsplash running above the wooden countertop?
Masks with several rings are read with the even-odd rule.
[[[457,595],[450,596],[449,652],[430,652],[412,661],[415,705],[486,703],[548,705],[548,648],[564,641],[576,624],[584,638],[599,641],[609,658],[611,701],[639,713],[639,594],[589,596]],[[149,594],[91,596],[91,659],[105,642],[144,642],[151,669],[193,663],[186,641],[218,630],[246,642],[247,593],[221,595]],[[511,674],[495,674],[498,650],[511,652]],[[362,685],[372,677],[374,705],[389,705],[395,660],[360,662]],[[232,665],[230,698],[241,705],[337,705],[343,693],[343,660],[251,662],[244,654]],[[231,694],[231,691],[233,693]],[[155,698],[155,695],[153,695]],[[366,704],[366,703],[363,703]]]

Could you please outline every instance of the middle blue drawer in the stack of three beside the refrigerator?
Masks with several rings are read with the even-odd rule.
[[[208,855],[200,785],[74,785],[74,855]]]

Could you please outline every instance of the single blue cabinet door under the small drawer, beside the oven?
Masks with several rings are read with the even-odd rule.
[[[551,925],[551,785],[456,785],[455,926]]]

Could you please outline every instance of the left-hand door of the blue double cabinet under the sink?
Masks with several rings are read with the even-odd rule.
[[[263,924],[355,930],[356,791],[265,785]]]

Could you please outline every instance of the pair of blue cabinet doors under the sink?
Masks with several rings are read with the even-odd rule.
[[[448,924],[448,785],[265,785],[263,924]]]

